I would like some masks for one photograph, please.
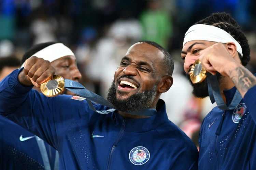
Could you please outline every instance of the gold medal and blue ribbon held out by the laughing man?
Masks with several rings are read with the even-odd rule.
[[[100,114],[108,114],[116,110],[115,106],[101,97],[100,95],[89,91],[86,89],[82,84],[79,82],[69,80],[69,79],[62,79],[60,78],[61,76],[54,75],[52,76],[49,80],[41,84],[41,91],[44,95],[48,97],[53,97],[58,95],[63,91],[63,88],[75,93],[76,95],[79,95],[81,97],[86,98],[86,101],[89,105],[89,108],[97,113]],[[108,110],[96,110],[93,103],[95,102],[101,105],[104,105],[106,107],[109,107],[110,109]],[[138,111],[132,111],[132,112],[127,112],[128,114],[133,114],[133,115],[140,115],[140,116],[152,116],[156,113],[156,109],[153,108],[147,108],[143,110],[138,110]]]

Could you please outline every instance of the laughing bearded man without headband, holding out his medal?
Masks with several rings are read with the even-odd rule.
[[[99,114],[86,100],[31,90],[55,73],[49,62],[32,57],[0,83],[0,112],[54,146],[60,169],[197,169],[196,146],[168,120],[159,99],[172,85],[172,72],[173,60],[161,46],[132,45],[108,93],[117,110]],[[142,116],[145,109],[156,112]]]

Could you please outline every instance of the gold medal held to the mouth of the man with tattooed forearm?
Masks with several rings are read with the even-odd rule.
[[[190,79],[194,84],[200,83],[206,78],[206,73],[201,61],[197,60],[190,69]]]

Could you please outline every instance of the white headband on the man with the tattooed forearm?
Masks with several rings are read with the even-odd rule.
[[[183,47],[185,43],[193,40],[213,41],[218,43],[233,42],[237,46],[237,52],[243,57],[241,45],[229,33],[218,27],[205,24],[191,26],[185,34]]]

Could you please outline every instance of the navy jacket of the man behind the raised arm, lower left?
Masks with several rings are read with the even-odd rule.
[[[19,138],[22,135],[24,141]],[[27,137],[32,137],[27,139]],[[54,169],[56,150],[44,142],[51,169]],[[43,159],[35,136],[16,123],[0,116],[0,169],[44,170]]]

